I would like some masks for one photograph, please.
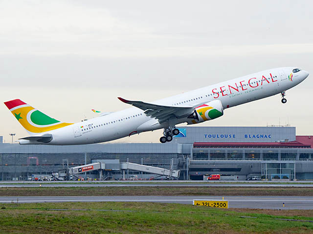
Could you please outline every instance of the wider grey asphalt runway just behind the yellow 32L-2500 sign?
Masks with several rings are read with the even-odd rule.
[[[222,200],[221,196],[0,196],[0,203],[33,202],[161,202],[192,204],[193,199]],[[312,196],[224,196],[229,208],[313,210]],[[285,206],[283,206],[285,203]],[[82,205],[83,208],[83,205]]]

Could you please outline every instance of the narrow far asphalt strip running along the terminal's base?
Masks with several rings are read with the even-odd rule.
[[[201,182],[201,183],[166,183],[166,182],[84,182],[84,183],[0,183],[0,188],[8,187],[313,187],[308,183],[223,183],[223,182]]]

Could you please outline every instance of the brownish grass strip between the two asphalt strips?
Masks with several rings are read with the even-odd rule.
[[[313,187],[20,187],[0,188],[0,196],[268,195],[313,196]]]

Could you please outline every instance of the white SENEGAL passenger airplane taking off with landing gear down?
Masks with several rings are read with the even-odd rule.
[[[107,112],[79,123],[48,117],[20,99],[4,102],[29,133],[20,144],[77,145],[111,141],[157,129],[164,129],[160,142],[170,142],[179,134],[176,125],[197,124],[224,115],[224,110],[250,101],[281,94],[309,73],[295,67],[280,67],[202,87],[152,103],[118,98],[134,107]]]

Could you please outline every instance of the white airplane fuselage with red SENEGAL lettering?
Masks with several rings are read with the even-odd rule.
[[[293,74],[291,81],[288,75],[292,73],[293,69],[294,67],[274,68],[160,99],[153,104],[195,106],[212,100],[220,100],[223,108],[227,109],[279,94],[299,84],[308,76],[306,71],[299,71]],[[188,119],[180,118],[175,121],[174,124],[179,124],[187,122]],[[53,136],[52,141],[46,144],[91,144],[166,127],[166,123],[159,124],[157,119],[147,117],[144,111],[133,107],[46,132]],[[26,142],[21,140],[20,143]]]

